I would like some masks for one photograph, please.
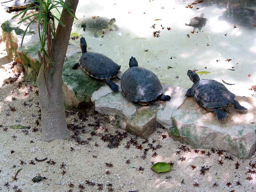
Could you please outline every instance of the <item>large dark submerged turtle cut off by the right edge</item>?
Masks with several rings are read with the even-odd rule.
[[[256,25],[256,11],[248,8],[232,8],[223,12],[219,20],[242,26],[246,28],[254,28]]]

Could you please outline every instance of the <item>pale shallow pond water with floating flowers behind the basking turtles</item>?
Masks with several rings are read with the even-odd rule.
[[[190,88],[186,72],[195,69],[211,72],[200,75],[201,79],[238,82],[225,86],[236,95],[251,96],[254,92],[249,88],[256,84],[256,1],[192,2],[80,1],[72,34],[84,36],[89,51],[110,57],[122,72],[134,56],[139,66],[153,71],[164,84]],[[84,31],[81,24],[94,16],[115,18],[115,26],[109,28],[105,21],[103,27]],[[200,16],[207,19],[205,26],[193,31],[190,21]],[[70,42],[79,46],[79,39]]]

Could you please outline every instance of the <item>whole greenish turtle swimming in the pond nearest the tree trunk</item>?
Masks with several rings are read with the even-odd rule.
[[[100,16],[92,16],[90,18],[85,18],[82,21],[81,27],[85,31],[86,28],[90,30],[95,30],[94,37],[98,38],[102,35],[102,30],[112,30],[118,29],[116,24],[115,18],[109,19],[107,17],[100,17]]]

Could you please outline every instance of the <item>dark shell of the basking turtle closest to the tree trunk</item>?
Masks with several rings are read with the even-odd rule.
[[[120,66],[107,56],[86,52],[79,60],[80,66],[92,77],[96,79],[108,79],[117,76]]]

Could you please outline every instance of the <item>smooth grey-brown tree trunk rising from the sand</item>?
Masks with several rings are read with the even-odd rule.
[[[72,8],[75,14],[78,0],[66,0],[65,3]],[[46,69],[42,64],[37,78],[43,141],[70,139],[63,101],[62,68],[74,17],[63,9],[60,20],[65,26],[58,24],[49,53],[51,64]]]

